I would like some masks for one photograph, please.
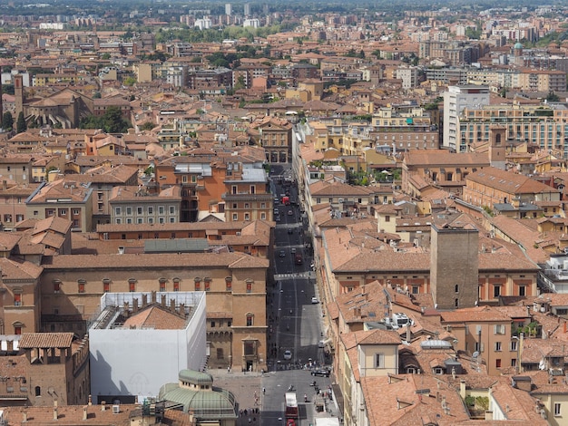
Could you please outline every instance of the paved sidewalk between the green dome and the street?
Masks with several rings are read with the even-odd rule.
[[[239,409],[244,411],[247,410],[247,416],[244,414],[242,417],[237,419],[237,426],[249,425],[249,418],[252,420],[255,414],[249,415],[250,409],[258,408],[260,410],[262,404],[262,374],[261,373],[242,373],[242,372],[231,372],[227,373],[227,370],[216,369],[208,370],[213,376],[213,386],[226,389],[232,392],[235,396],[237,402],[239,402]],[[254,392],[257,392],[257,397],[259,399],[259,405],[255,405]],[[260,425],[260,414],[256,414],[256,421],[251,421],[251,425]]]

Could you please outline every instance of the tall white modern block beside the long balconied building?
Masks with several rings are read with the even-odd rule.
[[[465,152],[467,146],[460,140],[459,117],[465,108],[481,109],[489,105],[489,88],[466,84],[449,86],[444,92],[444,140],[442,147]]]

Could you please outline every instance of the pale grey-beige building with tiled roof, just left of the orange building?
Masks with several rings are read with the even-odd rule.
[[[158,194],[138,187],[114,187],[109,196],[111,223],[164,224],[180,221],[181,188],[171,186]]]

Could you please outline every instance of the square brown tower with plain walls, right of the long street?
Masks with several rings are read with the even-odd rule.
[[[475,306],[479,297],[478,246],[479,232],[462,214],[446,211],[434,215],[430,280],[438,309]]]

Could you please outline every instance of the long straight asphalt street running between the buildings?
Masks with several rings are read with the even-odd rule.
[[[275,194],[289,190],[290,199],[298,200],[298,190],[279,184],[279,177],[291,177],[289,168],[272,167],[272,190]],[[282,179],[285,182],[285,179]],[[284,394],[290,385],[294,387],[299,402],[299,421],[301,426],[312,423],[317,414],[314,405],[316,381],[318,388],[327,390],[330,378],[314,377],[309,364],[325,363],[324,350],[318,347],[322,340],[322,312],[319,303],[312,303],[312,297],[319,300],[315,273],[312,271],[311,250],[304,240],[305,228],[302,225],[299,206],[277,206],[280,221],[275,229],[275,283],[269,295],[269,335],[272,350],[269,356],[269,372],[262,377],[266,393],[262,397],[262,424],[286,424],[284,416]],[[291,231],[289,231],[291,229]],[[280,257],[280,251],[283,256]],[[295,251],[295,253],[293,253]],[[302,264],[294,261],[295,254],[302,255]],[[284,352],[291,351],[291,359],[284,359]],[[308,402],[304,402],[304,395]],[[328,400],[327,400],[328,401]],[[334,410],[332,403],[328,409]]]

